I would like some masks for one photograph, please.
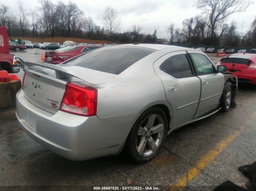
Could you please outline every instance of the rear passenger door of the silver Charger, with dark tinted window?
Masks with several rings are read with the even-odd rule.
[[[201,94],[201,81],[191,67],[187,52],[165,54],[155,61],[154,69],[173,109],[172,128],[193,119]]]

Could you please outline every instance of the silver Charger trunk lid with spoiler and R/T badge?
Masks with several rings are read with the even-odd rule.
[[[104,74],[95,74],[95,77],[89,75],[87,68],[79,66],[30,62],[25,64],[28,65],[28,69],[25,71],[24,96],[35,106],[54,114],[59,110],[67,82],[86,81],[88,85],[105,83],[97,78]]]

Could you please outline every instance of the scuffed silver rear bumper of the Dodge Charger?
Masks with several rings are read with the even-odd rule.
[[[100,120],[62,111],[52,114],[29,102],[20,90],[16,116],[33,140],[65,158],[82,161],[120,154],[139,115]]]

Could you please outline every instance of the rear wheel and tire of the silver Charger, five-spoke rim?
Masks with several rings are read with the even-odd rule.
[[[167,129],[167,117],[161,108],[151,107],[145,110],[136,120],[128,135],[125,154],[136,163],[150,161],[155,158],[163,146]],[[141,148],[140,153],[139,148]]]

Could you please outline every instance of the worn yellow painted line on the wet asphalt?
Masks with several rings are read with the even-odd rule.
[[[250,118],[255,118],[256,112],[250,116]],[[188,169],[184,173],[177,183],[170,184],[170,191],[181,191],[187,184],[196,177],[201,170],[206,167],[209,162],[211,162],[221,151],[250,123],[251,120],[246,120],[244,126],[241,126],[239,130],[234,130],[228,137],[224,138],[219,142],[212,150],[208,151],[202,158],[197,161],[194,167]]]

